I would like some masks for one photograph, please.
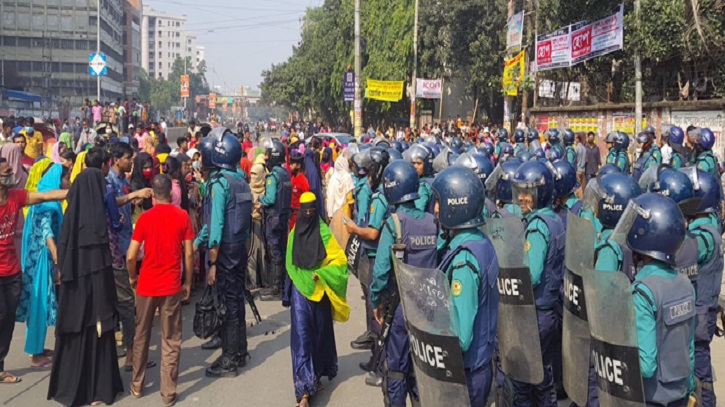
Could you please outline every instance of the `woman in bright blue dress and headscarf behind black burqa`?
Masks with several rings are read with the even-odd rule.
[[[38,183],[38,192],[70,188],[70,171],[53,164]],[[56,240],[63,222],[60,202],[31,206],[23,229],[23,291],[16,319],[27,324],[25,353],[32,356],[31,367],[52,367],[52,353],[44,348],[47,328],[55,325],[57,304],[55,285]]]

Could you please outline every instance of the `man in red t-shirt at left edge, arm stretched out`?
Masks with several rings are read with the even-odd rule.
[[[20,301],[23,275],[15,251],[18,214],[24,206],[65,199],[67,190],[28,192],[11,189],[17,178],[7,160],[0,157],[0,384],[17,383],[20,378],[5,371],[5,356],[15,329],[15,311]]]

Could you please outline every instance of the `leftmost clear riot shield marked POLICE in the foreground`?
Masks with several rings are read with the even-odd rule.
[[[413,267],[395,257],[393,265],[420,405],[470,406],[448,279],[439,270]]]

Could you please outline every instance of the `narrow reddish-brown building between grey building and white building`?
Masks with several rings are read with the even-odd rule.
[[[129,97],[140,86],[142,9],[141,0],[123,0],[123,85]]]

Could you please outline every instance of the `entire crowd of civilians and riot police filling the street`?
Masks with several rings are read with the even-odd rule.
[[[82,129],[96,127],[95,117],[81,120]],[[202,345],[221,348],[206,376],[235,377],[246,365],[245,300],[254,290],[290,308],[295,397],[306,407],[321,378],[337,375],[333,321],[350,318],[354,271],[367,329],[350,346],[371,350],[360,364],[366,383],[382,387],[386,405],[415,404],[422,392],[408,328],[391,299],[393,264],[401,261],[438,269],[450,284],[472,406],[484,406],[492,388],[502,405],[555,406],[572,374],[562,367],[562,353],[573,351],[562,349],[564,242],[567,222],[580,217],[593,230],[585,248],[591,268],[631,282],[625,294],[636,323],[622,329],[638,337],[643,401],[686,406],[697,389],[702,405],[715,406],[709,346],[723,269],[723,193],[709,129],[648,127],[635,138],[634,157],[629,135],[611,133],[602,165],[595,135],[569,129],[510,136],[449,121],[419,135],[371,129],[342,144],[316,136],[332,130],[325,125],[289,126],[280,138],[257,141],[243,127],[191,122],[172,149],[164,126],[142,122],[52,142],[37,138],[28,120],[18,131],[3,122],[12,142],[0,149],[2,383],[21,380],[4,359],[22,322],[31,367],[51,371],[49,399],[76,406],[111,404],[124,390],[142,397],[146,369],[156,365],[148,346],[158,312],[160,393],[173,405],[181,307],[197,283],[215,286],[226,307]],[[507,354],[515,344],[497,340],[510,323],[499,318],[508,268],[485,227],[507,219],[523,221],[514,223],[525,229],[516,256],[527,258],[521,284],[532,293],[537,324],[529,328],[540,345],[516,349],[518,356]],[[350,241],[365,261],[353,261]],[[49,326],[54,349],[44,348]],[[130,387],[116,360],[124,355]],[[543,379],[527,382],[502,363],[516,357],[527,365],[538,358],[531,365],[542,366]],[[589,406],[603,388],[598,369],[579,377],[589,377]]]

